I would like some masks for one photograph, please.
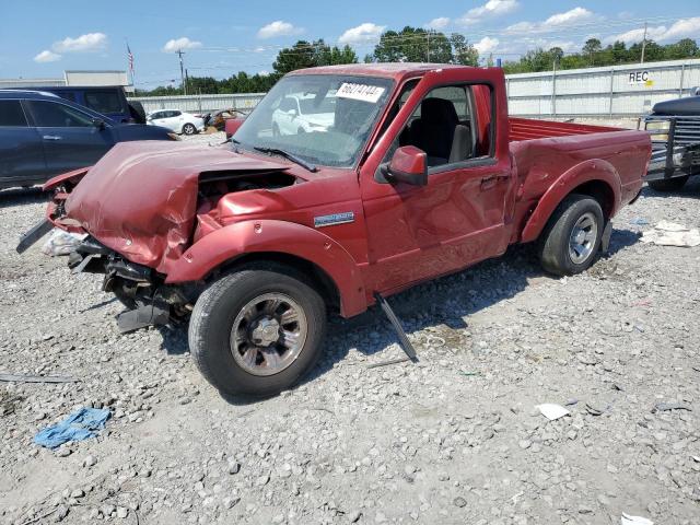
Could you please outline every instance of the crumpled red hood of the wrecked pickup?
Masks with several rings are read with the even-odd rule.
[[[95,164],[66,201],[66,212],[129,260],[163,271],[192,235],[202,172],[279,172],[287,164],[228,147],[120,142]]]

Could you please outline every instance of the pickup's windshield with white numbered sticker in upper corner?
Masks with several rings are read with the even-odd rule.
[[[351,167],[392,92],[389,79],[285,77],[236,131],[243,148],[283,150],[310,163]]]

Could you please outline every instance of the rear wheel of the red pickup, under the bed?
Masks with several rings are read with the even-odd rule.
[[[591,267],[600,248],[605,218],[597,200],[572,194],[557,207],[539,236],[539,260],[556,276],[573,276]]]

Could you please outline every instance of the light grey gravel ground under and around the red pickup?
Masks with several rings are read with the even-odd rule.
[[[377,308],[332,319],[312,375],[253,401],[203,381],[184,327],[119,335],[98,277],[19,256],[44,197],[4,191],[0,372],[80,382],[0,383],[0,522],[698,524],[700,248],[630,221],[700,226],[699,197],[646,188],[581,276],[516,247],[393,298],[418,364],[368,368],[401,355]],[[113,413],[97,439],[33,443],[84,406]]]

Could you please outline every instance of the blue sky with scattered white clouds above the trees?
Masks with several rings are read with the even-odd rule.
[[[97,9],[101,7],[101,9]],[[581,48],[641,40],[644,21],[661,43],[700,37],[698,0],[3,0],[0,78],[60,77],[66,69],[126,69],[126,40],[140,88],[179,78],[182,48],[190,75],[271,71],[280,47],[324,38],[370,52],[384,28],[432,26],[459,32],[482,56],[515,59],[527,49]]]

